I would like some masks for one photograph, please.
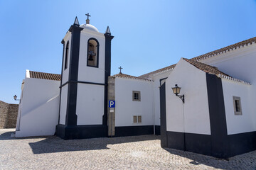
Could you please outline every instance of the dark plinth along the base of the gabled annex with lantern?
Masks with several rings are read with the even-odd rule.
[[[184,137],[186,141],[185,145]],[[228,147],[224,150],[220,150],[223,154],[216,154],[211,135],[193,133],[185,133],[184,135],[183,132],[167,132],[167,147],[198,154],[206,154],[221,159],[227,159],[238,154],[256,150],[256,132],[228,135],[227,142]],[[221,147],[218,149],[221,149]]]

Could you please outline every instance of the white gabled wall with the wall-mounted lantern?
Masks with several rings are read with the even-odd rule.
[[[184,104],[171,89],[175,84],[185,95]],[[166,80],[166,128],[167,131],[210,135],[206,73],[183,59]]]

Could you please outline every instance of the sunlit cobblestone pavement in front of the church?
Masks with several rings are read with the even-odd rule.
[[[0,130],[0,169],[256,169],[256,152],[228,160],[160,147],[159,136],[61,140]]]

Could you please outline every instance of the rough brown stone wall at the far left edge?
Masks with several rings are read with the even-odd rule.
[[[0,101],[0,129],[16,128],[18,104]]]

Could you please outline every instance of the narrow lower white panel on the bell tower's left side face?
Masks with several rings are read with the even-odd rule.
[[[67,114],[67,102],[68,102],[68,84],[61,89],[60,100],[60,124],[65,125],[65,118]]]

